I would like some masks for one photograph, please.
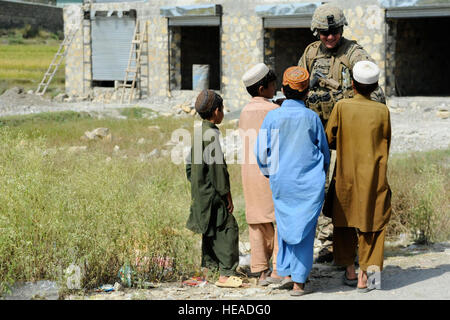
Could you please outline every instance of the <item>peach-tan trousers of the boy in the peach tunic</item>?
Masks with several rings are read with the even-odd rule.
[[[273,223],[258,223],[248,225],[250,240],[250,270],[261,272],[269,269],[272,257],[273,271],[277,270],[278,240],[277,229]]]

